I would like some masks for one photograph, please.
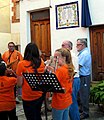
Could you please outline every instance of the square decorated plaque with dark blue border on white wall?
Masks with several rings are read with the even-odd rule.
[[[78,1],[56,5],[56,29],[79,27]]]

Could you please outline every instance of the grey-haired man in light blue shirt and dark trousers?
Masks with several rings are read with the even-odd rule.
[[[79,75],[81,87],[79,91],[82,111],[80,118],[85,119],[89,117],[89,94],[91,81],[91,54],[87,48],[87,39],[81,38],[77,40]]]

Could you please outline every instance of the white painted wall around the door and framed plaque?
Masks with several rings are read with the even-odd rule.
[[[76,0],[23,0],[20,4],[20,42],[22,53],[28,42],[31,41],[30,35],[30,12],[39,9],[49,8],[50,4],[50,26],[51,26],[51,45],[52,54],[55,49],[61,47],[63,40],[71,40],[74,44],[74,50],[76,52],[76,40],[78,38],[86,37],[88,39],[88,47],[90,46],[89,29],[81,26],[76,28],[60,29],[56,30],[56,13],[55,5],[75,2]],[[79,4],[79,21],[81,25],[81,1],[77,0]],[[91,12],[91,18],[93,25],[104,24],[104,0],[88,0]],[[90,48],[90,47],[89,47]]]

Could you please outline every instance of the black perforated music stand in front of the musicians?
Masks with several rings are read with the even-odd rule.
[[[46,93],[64,93],[65,89],[61,87],[56,75],[53,73],[23,73],[23,76],[33,91],[43,92],[45,97],[45,116],[47,120]]]

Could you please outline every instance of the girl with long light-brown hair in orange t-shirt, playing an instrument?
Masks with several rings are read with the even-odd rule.
[[[48,71],[56,74],[58,81],[65,93],[53,93],[52,96],[52,117],[53,120],[69,120],[69,107],[72,104],[72,81],[74,66],[70,51],[65,48],[57,49],[54,53],[54,62],[57,68],[54,71],[52,66],[47,66]]]

